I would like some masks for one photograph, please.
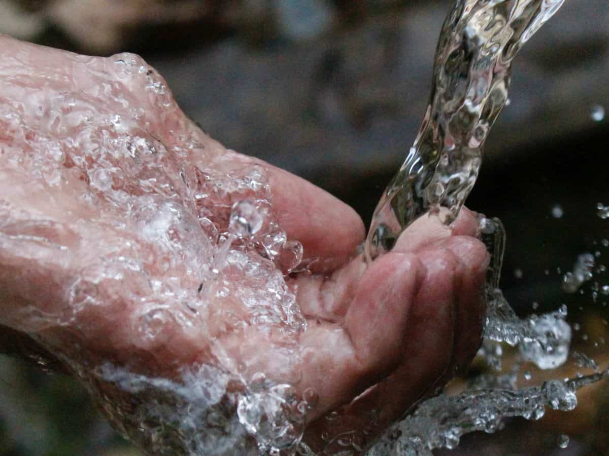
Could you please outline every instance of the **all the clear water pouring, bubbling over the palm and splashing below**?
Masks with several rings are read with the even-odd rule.
[[[400,233],[426,212],[442,216],[445,223],[456,218],[476,181],[484,141],[507,100],[512,60],[562,3],[456,0],[438,43],[423,125],[373,217],[365,245],[368,260],[390,250]],[[100,239],[101,250],[97,263],[79,269],[76,280],[62,285],[69,301],[65,309],[23,312],[40,328],[71,326],[87,333],[95,326],[87,326],[82,315],[99,312],[108,318],[119,298],[138,302],[128,321],[116,323],[132,328],[125,333],[132,337],[130,350],[135,346],[142,357],[155,359],[165,345],[171,350],[177,344],[164,344],[167,337],[183,333],[181,345],[168,352],[172,357],[205,351],[213,354],[213,361],[171,375],[161,371],[146,376],[137,373],[137,356],[129,360],[135,363],[133,370],[125,367],[128,363],[108,359],[91,365],[86,347],[70,344],[69,351],[42,339],[40,343],[87,385],[114,427],[150,454],[312,455],[301,438],[319,392],[299,394],[294,389],[303,358],[294,340],[306,331],[308,321],[286,282],[300,267],[303,247],[288,241],[280,229],[266,171],[239,164],[230,152],[215,154],[217,147],[184,119],[164,82],[141,59],[128,54],[109,60],[66,58],[74,67],[86,66],[83,74],[93,89],[49,89],[44,103],[69,106],[69,115],[58,108],[44,116],[36,98],[43,95],[12,76],[21,68],[27,78],[27,65],[5,60],[12,67],[8,76],[0,74],[9,99],[0,104],[0,126],[13,142],[3,150],[0,171],[4,179],[12,171],[28,176],[33,194],[61,195],[68,181],[86,182],[72,202],[87,218],[32,221],[10,200],[0,200],[0,213],[15,222],[10,232],[0,227],[0,241],[11,258],[44,255],[58,271],[87,254],[78,250],[81,244],[67,243],[64,233]],[[124,85],[141,96],[138,103],[146,109],[129,109]],[[91,102],[96,96],[101,109]],[[169,125],[169,133],[153,136],[151,125]],[[181,132],[177,138],[175,131]],[[171,153],[166,144],[173,144]],[[50,153],[41,156],[36,150]],[[208,163],[214,165],[206,167]],[[107,213],[99,212],[100,207]],[[603,204],[598,211],[602,218],[609,216]],[[516,316],[498,288],[505,244],[501,222],[481,217],[479,223],[493,258],[479,356],[493,373],[473,379],[456,395],[422,402],[369,449],[370,455],[429,454],[434,448],[455,447],[468,432],[494,432],[505,418],[538,419],[546,407],[572,410],[577,389],[607,376],[594,360],[579,354],[577,363],[593,374],[516,389],[522,363],[547,370],[566,361],[572,330],[563,307],[524,320]],[[49,237],[49,231],[57,236]],[[105,238],[108,232],[112,235]],[[590,281],[594,266],[594,258],[582,255],[565,276],[565,290],[576,291]],[[598,292],[603,294],[604,288]],[[241,332],[251,328],[255,331]],[[234,334],[241,337],[238,344]],[[200,340],[210,342],[199,347]],[[517,349],[512,350],[512,365],[506,366],[502,353],[508,347]],[[245,355],[236,356],[239,350]],[[274,374],[282,370],[282,381],[259,372],[261,353],[274,362]],[[337,443],[336,451],[323,455],[361,453],[347,434],[322,436]],[[562,436],[558,445],[566,444],[568,437]]]

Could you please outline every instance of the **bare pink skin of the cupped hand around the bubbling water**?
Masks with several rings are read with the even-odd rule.
[[[135,274],[127,282],[100,285],[96,293],[105,305],[86,307],[67,325],[43,324],[36,317],[65,312],[66,290],[97,258],[131,255],[144,258],[153,277],[168,273],[157,246],[132,221],[121,218],[120,204],[108,204],[104,192],[96,193],[101,197],[95,204],[83,200],[94,193],[86,165],[66,165],[66,156],[76,161],[83,156],[75,136],[80,127],[70,123],[74,103],[89,103],[102,113],[139,106],[141,117],[128,128],[133,135],[144,131],[167,149],[160,171],[146,165],[143,169],[160,173],[155,174],[157,181],[173,182],[187,211],[197,208],[180,193],[177,164],[187,169],[188,179],[197,170],[230,174],[243,164],[259,164],[267,170],[278,223],[289,239],[303,244],[305,259],[314,260],[314,274],[289,278],[309,320],[297,340],[286,340],[289,336],[278,331],[261,332],[255,325],[227,330],[224,307],[241,311],[227,300],[211,305],[204,322],[234,362],[247,360],[248,372],[283,380],[294,375],[291,368],[298,369],[297,392],[312,388],[319,395],[305,434],[314,449],[324,445],[322,432],[336,435],[364,428],[367,434],[358,441],[365,446],[418,399],[467,367],[481,339],[488,266],[473,213],[463,209],[450,228],[424,216],[401,235],[392,252],[366,267],[361,257],[352,257],[365,234],[353,209],[297,176],[227,151],[183,115],[168,91],[151,95],[143,76],[122,77],[118,58],[135,57],[76,56],[0,36],[0,324],[35,335],[56,353],[76,357],[71,347],[77,342],[84,350],[78,356],[86,353],[91,364],[111,359],[147,375],[173,378],[181,367],[216,362],[217,344],[201,337],[201,331],[171,320],[158,337],[144,340],[127,324],[138,313],[133,295],[145,299],[147,293]],[[141,60],[136,64],[144,65]],[[60,97],[64,104],[57,104]],[[32,99],[38,100],[40,112],[28,109]],[[7,106],[19,113],[27,129],[15,129],[3,117]],[[55,112],[61,115],[53,117]],[[40,137],[57,139],[68,150],[62,163],[53,162],[51,143],[37,141]],[[181,147],[185,142],[198,147]],[[15,150],[23,161],[7,158],[15,157]],[[114,165],[128,167],[125,160],[118,157]],[[41,170],[58,172],[57,185],[44,184]],[[128,187],[136,194],[141,190]],[[124,224],[120,229],[118,222]],[[23,235],[43,241],[32,243],[19,238]],[[68,248],[53,250],[49,243]],[[169,272],[182,277],[183,286],[196,289],[199,284],[183,268],[178,263]],[[281,358],[285,355],[279,347],[285,344],[300,350],[297,367]],[[339,420],[317,420],[337,409]]]

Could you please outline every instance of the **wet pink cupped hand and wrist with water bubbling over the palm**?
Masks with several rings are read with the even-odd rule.
[[[360,452],[476,353],[476,235],[424,216],[367,265],[350,207],[209,138],[141,58],[0,36],[0,323],[102,402],[133,390],[100,366],[212,366],[227,394],[291,385],[313,451]]]

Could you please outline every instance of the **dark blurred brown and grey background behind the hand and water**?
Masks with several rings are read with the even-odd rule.
[[[212,137],[320,185],[368,223],[417,133],[449,4],[0,0],[0,32],[86,54],[142,55]],[[609,361],[609,219],[597,204],[609,205],[608,80],[607,0],[566,0],[515,60],[510,105],[468,200],[505,224],[502,288],[516,311],[565,303],[574,348],[601,367]],[[594,277],[565,294],[563,274],[584,252],[595,257]],[[523,385],[547,377],[529,371]],[[579,372],[591,370],[569,362],[552,377]],[[609,384],[579,399],[575,412],[509,421],[438,454],[609,455]],[[76,382],[0,356],[0,456],[9,455],[139,453]]]

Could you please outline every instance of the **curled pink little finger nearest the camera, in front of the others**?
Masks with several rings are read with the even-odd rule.
[[[303,334],[301,385],[320,396],[313,416],[350,401],[400,362],[420,280],[417,258],[384,255],[365,272],[342,325],[322,323]]]

